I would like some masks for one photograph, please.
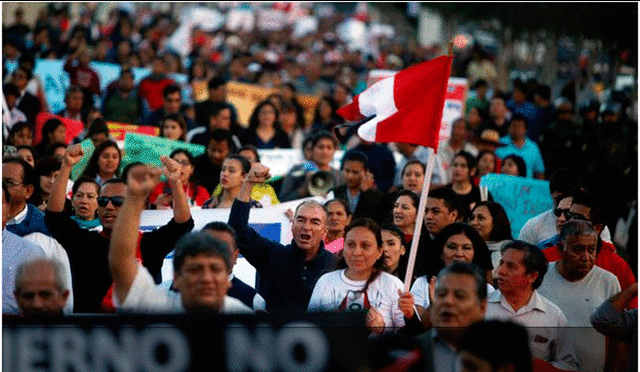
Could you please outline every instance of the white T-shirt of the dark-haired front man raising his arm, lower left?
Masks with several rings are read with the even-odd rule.
[[[136,313],[184,313],[180,293],[162,289],[153,281],[149,271],[138,266],[127,298],[121,304],[113,292],[113,303],[119,311]],[[222,314],[254,314],[240,300],[225,296]]]

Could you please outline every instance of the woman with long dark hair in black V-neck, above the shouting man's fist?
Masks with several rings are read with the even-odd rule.
[[[278,109],[270,101],[260,102],[249,118],[249,127],[240,138],[243,145],[258,149],[291,148],[291,141],[278,122]]]

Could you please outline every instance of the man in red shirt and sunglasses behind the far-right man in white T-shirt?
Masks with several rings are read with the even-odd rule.
[[[559,204],[560,205],[560,204]],[[586,221],[593,226],[593,229],[598,234],[597,246],[596,246],[596,261],[595,265],[613,273],[620,282],[620,287],[624,290],[636,282],[636,277],[633,275],[631,267],[618,253],[616,253],[616,247],[600,237],[602,230],[605,227],[606,211],[598,203],[597,199],[584,192],[577,193],[570,203],[569,209],[558,208],[560,217],[558,219],[566,218],[567,221],[582,220]],[[560,228],[558,228],[560,230]],[[558,244],[546,248],[542,251],[548,262],[556,262],[560,260],[560,249]],[[631,301],[630,308],[638,307],[638,298],[636,297]]]

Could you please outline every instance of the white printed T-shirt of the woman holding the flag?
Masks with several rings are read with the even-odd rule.
[[[398,308],[398,289],[403,288],[400,279],[381,272],[369,284],[365,296],[362,290],[366,280],[351,280],[345,272],[346,269],[332,271],[318,279],[309,300],[309,312],[357,312],[370,306],[384,318],[385,331],[404,327],[404,316]]]

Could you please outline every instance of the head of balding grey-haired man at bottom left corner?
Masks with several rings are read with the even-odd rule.
[[[16,270],[13,292],[22,314],[62,316],[69,298],[65,269],[54,258],[23,262]]]

